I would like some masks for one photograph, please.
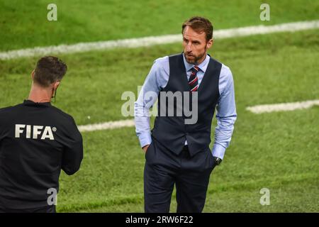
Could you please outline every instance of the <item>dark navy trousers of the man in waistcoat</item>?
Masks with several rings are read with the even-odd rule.
[[[174,185],[178,213],[203,211],[209,177],[216,166],[209,148],[191,157],[184,147],[176,155],[153,138],[145,159],[145,212],[169,212]]]

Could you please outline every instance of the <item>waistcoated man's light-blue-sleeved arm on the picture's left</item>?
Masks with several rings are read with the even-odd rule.
[[[152,142],[150,133],[150,107],[155,104],[162,87],[165,87],[169,77],[168,57],[155,60],[142,86],[138,100],[135,101],[134,117],[135,131],[140,140],[141,148],[146,151]]]

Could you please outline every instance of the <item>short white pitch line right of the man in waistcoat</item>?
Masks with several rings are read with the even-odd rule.
[[[252,111],[254,114],[278,112],[278,111],[294,111],[297,109],[309,109],[312,106],[319,106],[319,99],[308,100],[308,101],[298,101],[284,104],[269,104],[269,105],[258,105],[249,106],[246,109]]]

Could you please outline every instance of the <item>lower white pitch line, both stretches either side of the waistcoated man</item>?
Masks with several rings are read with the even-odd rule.
[[[269,104],[269,105],[258,105],[249,106],[247,110],[252,111],[254,114],[270,113],[276,111],[294,111],[296,109],[308,109],[314,105],[319,106],[319,99],[300,101],[284,104]],[[100,131],[114,128],[124,128],[135,126],[134,119],[121,120],[121,121],[108,121],[104,123],[95,123],[86,126],[78,126],[80,132]]]

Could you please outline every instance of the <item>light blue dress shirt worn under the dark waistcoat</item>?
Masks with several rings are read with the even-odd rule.
[[[183,58],[188,80],[191,76],[191,68],[195,65],[191,65],[186,62],[184,55]],[[205,60],[198,65],[200,69],[197,72],[198,87],[201,86],[201,80],[206,72],[209,60],[210,57],[206,55]],[[135,127],[141,147],[152,142],[150,132],[150,107],[155,104],[159,92],[162,88],[166,87],[168,80],[169,57],[160,57],[155,60],[152,65],[152,68],[142,86],[138,100],[135,101]],[[223,64],[220,70],[218,88],[220,97],[218,99],[218,104],[216,105],[217,126],[212,153],[213,156],[223,159],[225,150],[230,144],[234,130],[234,123],[237,118],[233,74],[230,71],[230,68]],[[145,99],[144,94],[147,92],[154,92],[153,94],[156,94],[156,97],[154,99]],[[187,144],[187,141],[185,144]]]

